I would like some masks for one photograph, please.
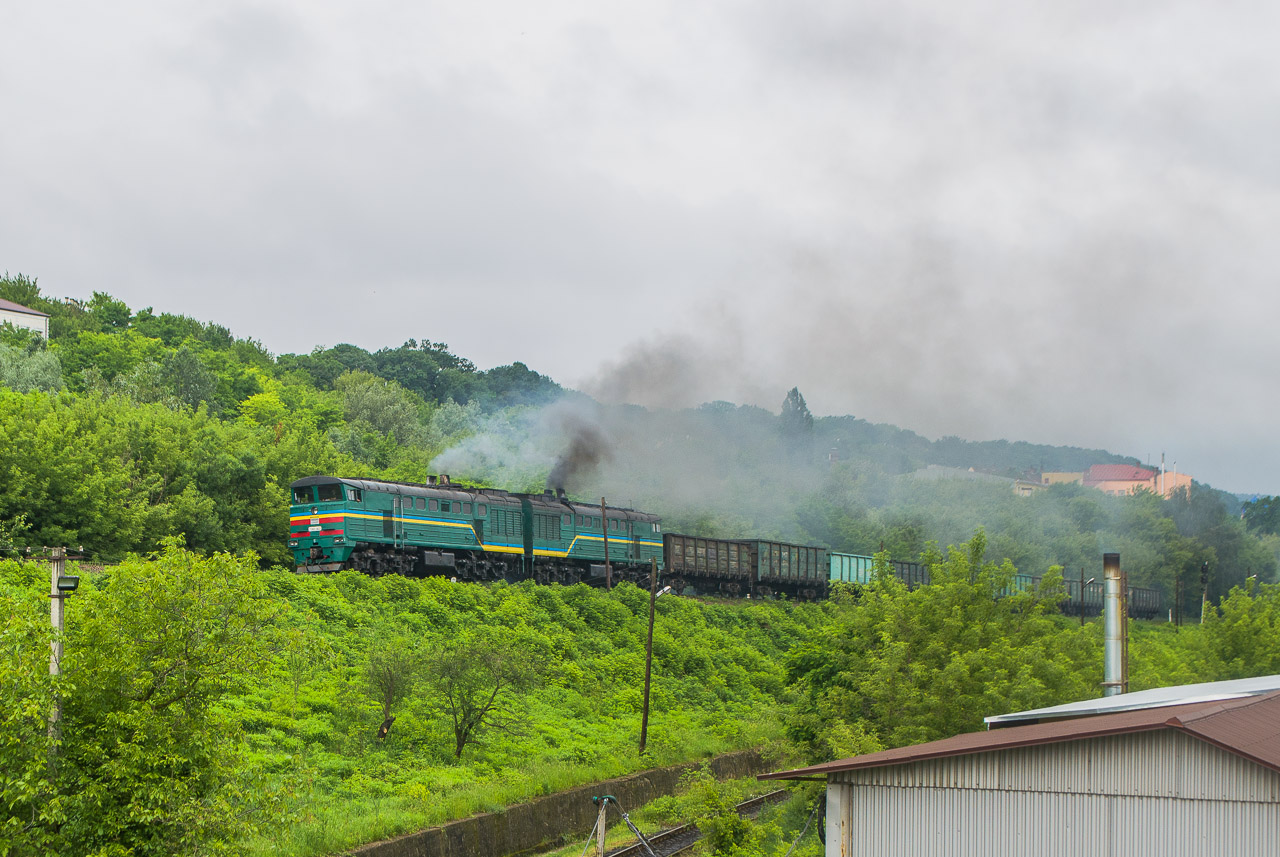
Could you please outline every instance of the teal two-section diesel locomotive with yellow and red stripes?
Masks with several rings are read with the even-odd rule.
[[[448,574],[465,581],[648,581],[662,522],[634,509],[511,494],[430,477],[426,485],[308,476],[289,486],[289,549],[300,572]]]

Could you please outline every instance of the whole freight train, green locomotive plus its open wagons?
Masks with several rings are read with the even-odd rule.
[[[568,499],[563,491],[513,494],[310,476],[289,486],[289,549],[298,572],[355,568],[370,574],[447,574],[463,581],[577,583],[605,576],[646,585],[652,565],[677,591],[737,597],[818,599],[831,583],[870,582],[870,556],[765,539],[707,539],[664,533],[662,521],[635,509]],[[929,582],[919,563],[893,562],[910,587]],[[1019,574],[1015,588],[1039,578]],[[1096,613],[1101,587],[1068,581],[1070,614]],[[1157,590],[1130,587],[1129,610],[1161,613]]]

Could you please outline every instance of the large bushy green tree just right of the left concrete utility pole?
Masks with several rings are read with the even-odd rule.
[[[169,542],[73,602],[61,853],[234,851],[247,796],[239,732],[221,704],[268,663],[276,613],[256,565]]]

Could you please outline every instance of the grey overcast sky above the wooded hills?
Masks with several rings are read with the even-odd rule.
[[[1280,6],[0,6],[0,271],[1280,492]]]

